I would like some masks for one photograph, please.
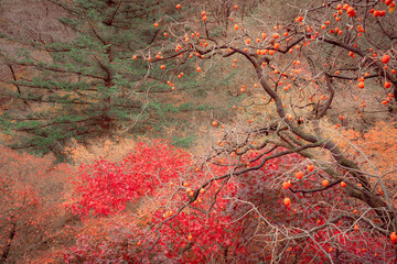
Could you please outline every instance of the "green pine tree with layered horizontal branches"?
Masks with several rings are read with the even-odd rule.
[[[174,4],[152,0],[51,2],[65,10],[61,22],[74,37],[30,41],[15,56],[0,50],[1,62],[11,69],[23,66],[36,75],[7,81],[15,87],[9,95],[28,111],[4,111],[0,123],[10,133],[23,135],[13,147],[39,153],[60,152],[58,146],[71,138],[111,136],[146,119],[150,92],[169,87],[161,77],[152,78],[161,76],[161,69],[148,63],[151,55],[138,51],[148,45],[155,48],[164,37],[161,26],[153,26],[155,18],[172,18],[176,12]],[[40,61],[32,56],[37,51],[44,54]]]

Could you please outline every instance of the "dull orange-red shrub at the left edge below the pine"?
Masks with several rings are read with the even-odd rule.
[[[0,262],[28,263],[60,241],[62,196],[69,173],[52,156],[0,146]],[[34,246],[32,246],[34,245]]]

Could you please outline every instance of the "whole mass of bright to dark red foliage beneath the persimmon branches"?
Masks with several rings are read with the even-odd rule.
[[[362,216],[376,221],[374,212],[346,198],[345,189],[339,184],[332,185],[330,180],[325,190],[305,195],[291,191],[322,189],[325,188],[322,180],[329,179],[316,166],[305,170],[310,162],[298,154],[271,158],[260,169],[238,177],[214,179],[227,175],[230,169],[227,165],[233,161],[238,160],[249,168],[285,150],[266,155],[264,151],[248,152],[236,160],[217,160],[217,165],[192,167],[187,153],[164,142],[138,145],[119,164],[100,160],[92,166],[82,165],[75,212],[88,216],[93,210],[93,215],[111,215],[111,218],[106,234],[83,233],[77,244],[66,251],[66,262],[141,258],[183,263],[258,262],[271,258],[271,249],[266,246],[273,243],[273,235],[290,241],[276,244],[285,248],[286,262],[294,257],[310,262],[314,256],[324,263],[334,258],[334,254],[340,260],[356,257],[368,262],[377,261],[380,253],[393,258],[388,238],[361,221]],[[294,177],[297,170],[304,172],[302,179]],[[210,184],[201,190],[206,180]],[[288,189],[281,187],[286,180],[291,182]],[[126,209],[127,201],[143,197],[150,201],[141,206],[146,218],[121,223],[112,220],[124,216],[117,212]],[[291,199],[287,207],[285,197]],[[333,220],[339,213],[344,216]],[[253,240],[257,234],[264,235],[262,239]],[[299,239],[300,235],[304,239]],[[258,254],[258,248],[265,250]]]

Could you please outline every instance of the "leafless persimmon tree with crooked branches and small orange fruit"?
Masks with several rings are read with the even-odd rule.
[[[203,163],[227,165],[228,170],[191,188],[192,198],[178,212],[191,207],[202,197],[200,190],[213,183],[223,183],[222,189],[246,180],[248,189],[239,189],[246,195],[237,191],[229,198],[264,226],[251,233],[257,244],[268,245],[268,251],[256,252],[257,260],[396,258],[395,194],[384,180],[385,174],[393,180],[395,170],[369,172],[339,146],[341,127],[360,129],[356,124],[395,118],[395,6],[394,1],[313,1],[288,3],[289,10],[272,10],[270,15],[270,3],[262,1],[256,14],[240,20],[236,4],[223,18],[234,21],[227,36],[218,34],[225,29],[214,26],[205,7],[197,12],[190,2],[176,7],[185,14],[181,20],[159,18],[153,26],[169,40],[161,50],[163,58],[150,62],[153,67],[173,62],[178,69],[193,59],[203,75],[214,64],[229,64],[230,70],[242,64],[247,73],[237,89],[248,95],[249,103],[230,109],[244,109],[246,122],[221,128],[223,120],[214,117],[219,139]],[[176,76],[170,76],[169,84],[173,82]],[[258,107],[261,112],[254,112]],[[287,168],[267,174],[278,158]],[[264,184],[257,179],[259,172],[268,175],[266,188],[250,197],[249,187]],[[271,191],[279,194],[270,196],[278,202],[268,198]]]

